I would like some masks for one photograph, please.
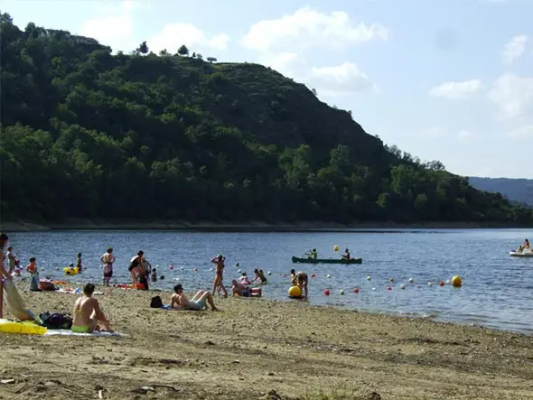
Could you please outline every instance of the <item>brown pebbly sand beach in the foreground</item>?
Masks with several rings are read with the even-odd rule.
[[[76,299],[23,287],[35,312]],[[125,338],[0,334],[0,398],[533,399],[529,336],[298,301],[154,310],[155,294],[97,296]]]

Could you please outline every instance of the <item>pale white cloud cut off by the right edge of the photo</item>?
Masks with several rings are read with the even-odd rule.
[[[505,73],[496,79],[488,94],[500,107],[500,119],[512,119],[533,111],[533,78]]]

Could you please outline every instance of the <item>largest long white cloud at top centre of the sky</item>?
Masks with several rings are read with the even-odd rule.
[[[345,12],[323,14],[304,7],[294,14],[254,23],[241,44],[248,49],[273,53],[321,46],[341,47],[373,39],[387,40],[387,28],[379,23],[354,25]]]

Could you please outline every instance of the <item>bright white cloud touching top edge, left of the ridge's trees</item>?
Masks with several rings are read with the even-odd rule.
[[[113,51],[132,51],[138,45],[133,39],[133,14],[142,6],[134,1],[98,3],[102,16],[82,23],[79,34],[95,38]]]

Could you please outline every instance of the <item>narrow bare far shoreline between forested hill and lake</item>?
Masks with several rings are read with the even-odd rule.
[[[242,223],[153,219],[149,221],[66,219],[61,222],[35,222],[24,220],[3,220],[0,230],[5,232],[43,232],[69,230],[160,230],[199,232],[345,232],[361,229],[476,229],[476,228],[530,228],[519,224],[477,223],[477,222],[419,222],[399,224],[395,222],[358,222],[340,224],[336,222],[300,221],[294,223],[266,223],[248,221]]]

